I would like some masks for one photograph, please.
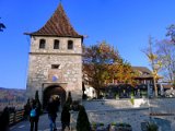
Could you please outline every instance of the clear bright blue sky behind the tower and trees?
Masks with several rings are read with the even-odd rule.
[[[25,88],[30,37],[51,16],[59,0],[0,0],[0,87]],[[165,37],[175,23],[175,0],[62,0],[74,29],[88,35],[85,45],[106,40],[132,66],[148,67],[141,49],[149,35]]]

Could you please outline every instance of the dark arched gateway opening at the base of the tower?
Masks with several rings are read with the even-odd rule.
[[[43,108],[47,107],[50,96],[58,95],[60,98],[60,105],[63,105],[66,102],[66,91],[59,85],[50,85],[46,87],[43,92]]]

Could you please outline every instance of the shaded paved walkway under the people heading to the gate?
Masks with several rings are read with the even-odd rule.
[[[57,131],[61,131],[60,112],[56,119]],[[30,121],[24,120],[14,124],[10,128],[10,131],[30,131]],[[49,119],[48,115],[45,114],[39,117],[38,131],[49,131]]]

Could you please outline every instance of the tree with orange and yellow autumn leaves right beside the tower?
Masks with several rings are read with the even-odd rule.
[[[119,79],[119,81],[129,82],[131,79],[131,76],[126,78],[131,73],[129,63],[124,62],[118,50],[106,41],[84,47],[83,72],[84,81],[96,90],[97,96],[100,96],[100,87],[104,86],[108,80]]]

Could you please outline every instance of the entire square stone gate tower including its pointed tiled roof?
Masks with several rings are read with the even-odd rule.
[[[71,26],[61,3],[47,23],[31,36],[27,97],[38,91],[46,104],[50,95],[66,100],[68,92],[73,99],[82,95],[82,41]]]

